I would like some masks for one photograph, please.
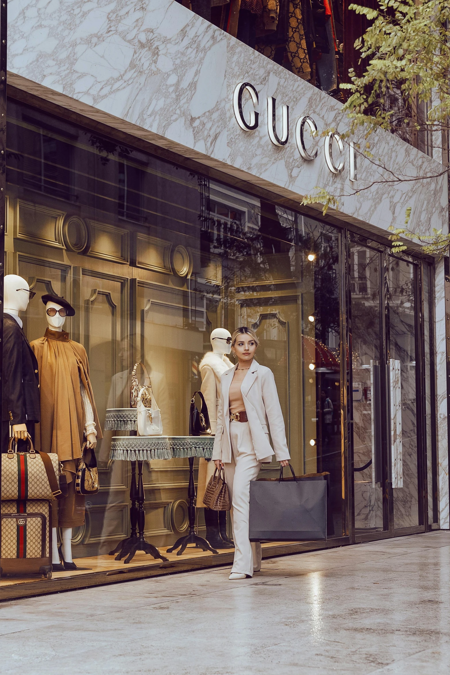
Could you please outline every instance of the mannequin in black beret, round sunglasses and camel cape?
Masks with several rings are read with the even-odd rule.
[[[63,331],[67,316],[74,308],[57,296],[42,296],[49,327],[43,338],[34,340],[40,375],[40,418],[36,447],[45,452],[57,452],[67,477],[69,494],[59,500],[53,514],[54,571],[78,569],[72,559],[72,528],[84,523],[85,501],[75,491],[75,475],[82,444],[94,452],[97,437],[102,437],[90,385],[86,350],[69,340]],[[61,315],[62,314],[62,315]],[[62,527],[63,541],[58,549],[57,526]],[[60,562],[62,561],[62,564]]]

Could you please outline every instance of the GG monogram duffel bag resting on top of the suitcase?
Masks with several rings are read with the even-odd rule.
[[[16,452],[9,439],[7,454],[1,455],[1,499],[60,499],[67,496],[67,481],[55,452],[36,452],[30,436],[29,452]]]

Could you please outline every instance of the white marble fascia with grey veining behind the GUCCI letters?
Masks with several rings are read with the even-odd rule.
[[[13,73],[282,194],[327,188],[339,196],[344,214],[371,227],[403,225],[406,207],[413,209],[410,225],[422,232],[447,227],[443,178],[385,184],[383,171],[362,159],[357,188],[363,192],[351,194],[348,167],[332,174],[322,145],[316,160],[301,159],[296,119],[310,114],[319,130],[344,130],[341,105],[175,1],[11,0],[8,20]],[[254,132],[244,132],[233,115],[233,90],[244,80],[260,96],[260,126]],[[267,96],[289,105],[290,137],[284,148],[273,145],[267,134]],[[384,132],[376,134],[373,153],[403,178],[440,169],[437,161]]]

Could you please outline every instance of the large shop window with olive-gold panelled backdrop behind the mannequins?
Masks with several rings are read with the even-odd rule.
[[[73,505],[72,557],[85,569],[70,574],[123,566],[109,552],[130,535],[130,462],[110,454],[128,431],[105,429],[105,416],[130,406],[134,364],[148,370],[163,433],[188,435],[211,333],[240,325],[256,331],[256,358],[275,374],[293,467],[325,475],[328,537],[345,535],[338,230],[22,103],[9,101],[7,124],[5,271],[35,294],[20,313],[32,346],[55,327],[57,298],[73,308],[61,327],[85,358],[80,404],[96,425],[100,489]],[[41,373],[41,397],[50,383]],[[188,526],[188,461],[144,462],[143,478],[146,540],[171,559]],[[204,536],[201,508],[196,518]],[[71,522],[55,523],[61,543]],[[161,560],[138,551],[130,565],[144,564]]]

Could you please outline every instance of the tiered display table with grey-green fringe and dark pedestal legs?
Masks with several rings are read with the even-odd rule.
[[[119,542],[110,555],[117,553],[115,560],[129,563],[136,551],[150,553],[153,558],[160,558],[167,562],[167,558],[161,555],[157,547],[145,541],[145,512],[144,512],[144,482],[142,480],[142,466],[148,460],[170,460],[188,458],[189,460],[189,485],[188,485],[188,514],[189,533],[179,537],[175,544],[167,549],[169,553],[179,548],[177,556],[181,556],[186,546],[190,543],[199,546],[203,551],[212,551],[206,539],[199,537],[195,532],[195,484],[194,484],[194,458],[203,457],[210,459],[213,455],[213,436],[138,436],[136,435],[136,408],[109,408],[105,416],[105,429],[113,431],[130,431],[130,436],[113,436],[111,440],[110,459],[131,463],[132,481],[130,486],[130,537]],[[136,463],[138,465],[138,480],[136,483]]]

